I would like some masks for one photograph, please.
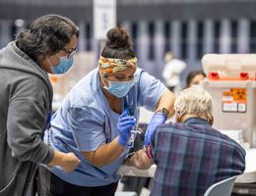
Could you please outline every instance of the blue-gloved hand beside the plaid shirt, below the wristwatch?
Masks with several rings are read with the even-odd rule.
[[[151,122],[149,123],[146,129],[146,133],[144,136],[144,146],[146,147],[146,149],[151,144],[151,140],[157,126],[160,125],[161,123],[165,123],[166,119],[167,119],[166,116],[161,113],[156,113],[153,116],[153,118],[151,119]]]

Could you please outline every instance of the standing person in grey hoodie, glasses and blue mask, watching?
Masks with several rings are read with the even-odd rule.
[[[47,15],[0,50],[0,195],[32,195],[37,164],[65,172],[80,164],[74,153],[53,150],[41,139],[51,114],[47,73],[70,69],[78,33],[69,19]]]

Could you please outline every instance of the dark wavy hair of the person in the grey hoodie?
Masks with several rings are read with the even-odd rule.
[[[40,64],[46,56],[64,48],[73,35],[79,35],[79,28],[74,22],[59,15],[46,15],[36,19],[30,29],[20,32],[16,44]]]

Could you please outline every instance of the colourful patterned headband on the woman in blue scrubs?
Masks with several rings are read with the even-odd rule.
[[[97,66],[98,66],[98,71],[100,75],[107,76],[109,74],[119,73],[121,71],[124,71],[128,67],[136,69],[137,62],[138,62],[137,58],[123,60],[123,59],[104,58],[100,56]]]

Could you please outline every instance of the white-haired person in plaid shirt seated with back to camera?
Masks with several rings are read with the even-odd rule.
[[[174,103],[176,122],[158,126],[152,139],[157,171],[151,195],[200,196],[212,184],[245,169],[245,151],[213,128],[212,97],[200,86],[180,92]],[[143,150],[130,165],[149,168]]]

